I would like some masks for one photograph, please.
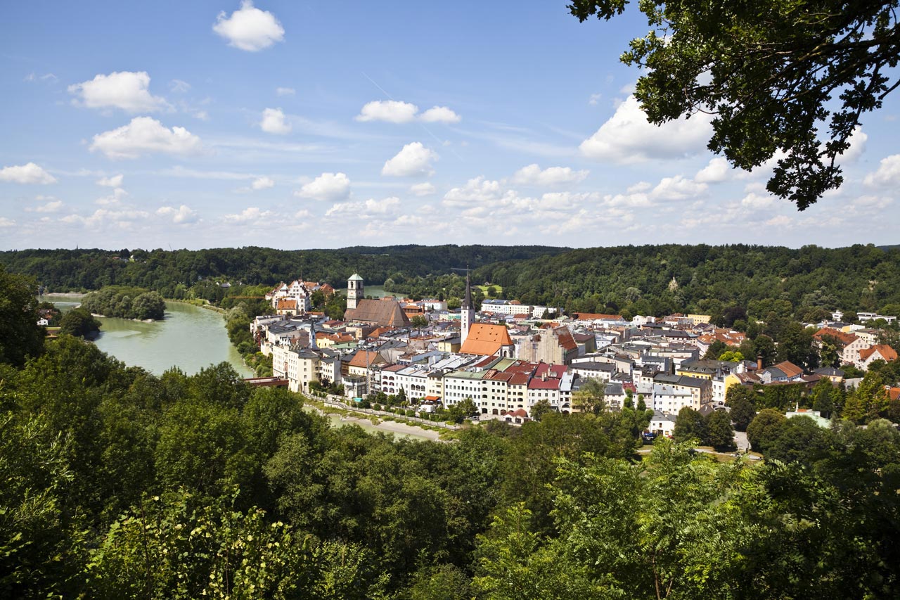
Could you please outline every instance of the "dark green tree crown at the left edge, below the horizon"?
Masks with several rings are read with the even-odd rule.
[[[0,266],[0,362],[23,365],[27,357],[43,350],[36,291],[31,277],[7,273]]]

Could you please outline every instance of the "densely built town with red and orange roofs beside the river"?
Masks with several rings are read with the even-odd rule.
[[[805,323],[817,328],[816,349],[839,347],[833,365],[806,371],[774,361],[771,353],[744,356],[739,349],[748,347],[746,334],[717,327],[708,314],[626,321],[620,314],[562,314],[552,306],[491,298],[476,310],[468,275],[462,306],[451,311],[446,300],[367,298],[364,278],[354,274],[347,280],[344,319],[336,321],[311,312],[317,289],[335,293],[328,284],[301,280],[276,286],[266,295],[274,314],[250,325],[260,351],[272,357],[277,380],[293,392],[329,390],[351,405],[404,405],[420,414],[465,404],[475,421],[527,423],[538,405],[561,414],[583,411],[579,392],[597,380],[599,394],[597,386],[590,393],[605,407],[644,405],[653,410],[649,433],[671,437],[685,407],[702,415],[727,411],[733,386],[801,384],[809,391],[823,380],[855,386],[858,377],[845,382],[844,371],[833,365],[861,373],[876,360],[897,358],[896,350],[879,343],[878,329],[843,323],[840,311]],[[893,323],[896,316],[860,313],[856,320],[877,319]],[[718,359],[709,358],[711,349]],[[896,399],[900,388],[887,386],[887,394]],[[819,411],[790,414],[828,423]]]

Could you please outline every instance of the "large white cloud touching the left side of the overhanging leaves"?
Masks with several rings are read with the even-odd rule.
[[[707,114],[678,119],[660,126],[647,121],[635,96],[618,106],[616,114],[582,141],[581,153],[590,159],[628,164],[649,159],[677,159],[706,147],[712,132]]]

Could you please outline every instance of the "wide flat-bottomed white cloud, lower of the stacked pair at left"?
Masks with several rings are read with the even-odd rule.
[[[148,152],[195,154],[201,141],[184,127],[167,129],[151,117],[135,117],[118,129],[94,135],[91,150],[100,150],[110,159],[137,159]]]

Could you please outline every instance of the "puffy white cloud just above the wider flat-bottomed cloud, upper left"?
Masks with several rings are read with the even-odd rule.
[[[166,108],[164,98],[150,95],[149,85],[150,76],[146,71],[118,71],[68,86],[68,92],[77,96],[73,104],[87,108],[121,108],[126,113]]]

